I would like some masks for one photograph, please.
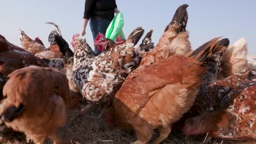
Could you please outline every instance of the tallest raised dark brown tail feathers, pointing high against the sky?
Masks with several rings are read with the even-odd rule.
[[[187,11],[188,6],[189,6],[188,4],[183,4],[178,7],[175,14],[173,15],[172,21],[165,28],[165,32],[177,24],[179,25],[179,28],[176,31],[177,33],[186,31],[186,26],[188,22],[188,11]]]

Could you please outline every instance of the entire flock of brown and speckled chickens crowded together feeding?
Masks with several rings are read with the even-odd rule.
[[[62,143],[56,131],[83,98],[79,115],[104,105],[98,118],[133,129],[133,144],[147,143],[154,129],[152,143],[160,143],[176,128],[185,136],[256,142],[256,67],[247,61],[246,40],[230,45],[219,37],[191,50],[187,7],[176,10],[155,46],[152,30],[137,45],[142,27],[116,43],[99,34],[98,56],[78,34],[73,53],[52,22],[49,49],[24,31],[23,49],[0,35],[1,124],[34,143]]]

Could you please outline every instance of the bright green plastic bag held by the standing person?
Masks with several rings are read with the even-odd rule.
[[[106,31],[106,38],[112,39],[115,41],[117,39],[118,35],[122,37],[122,39],[125,39],[125,35],[123,32],[123,26],[124,26],[124,17],[122,13],[117,13],[115,15],[114,19],[110,22],[107,31]]]

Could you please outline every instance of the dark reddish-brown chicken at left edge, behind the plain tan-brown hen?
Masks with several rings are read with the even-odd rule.
[[[7,39],[0,35],[0,99],[2,99],[2,89],[7,80],[7,75],[16,69],[28,67],[29,65],[48,67],[42,59],[9,43]]]

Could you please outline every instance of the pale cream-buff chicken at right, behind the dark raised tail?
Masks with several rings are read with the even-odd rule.
[[[245,38],[238,39],[235,44],[230,45],[224,52],[222,65],[220,66],[223,70],[218,74],[218,80],[231,75],[246,73],[249,70],[247,51]]]

